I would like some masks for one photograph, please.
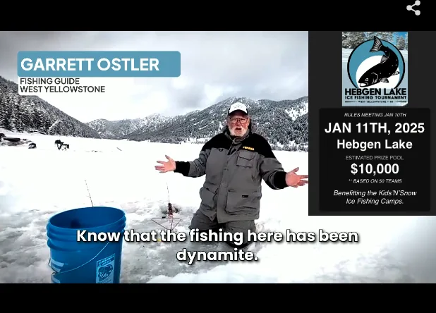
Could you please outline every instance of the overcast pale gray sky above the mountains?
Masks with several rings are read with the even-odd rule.
[[[181,52],[179,78],[111,78],[115,95],[43,97],[82,122],[174,116],[228,97],[308,95],[308,32],[0,32],[0,42],[0,76],[14,82],[23,50]]]

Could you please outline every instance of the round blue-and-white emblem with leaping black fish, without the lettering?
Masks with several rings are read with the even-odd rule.
[[[375,36],[358,45],[347,64],[349,79],[356,88],[396,88],[404,78],[405,68],[401,52]]]

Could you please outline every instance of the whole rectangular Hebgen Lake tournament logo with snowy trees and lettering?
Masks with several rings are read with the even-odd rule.
[[[408,103],[408,32],[342,32],[342,106]]]

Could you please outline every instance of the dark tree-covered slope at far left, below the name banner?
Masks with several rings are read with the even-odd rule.
[[[95,130],[40,97],[20,96],[18,85],[1,76],[0,128],[20,133],[100,138]]]

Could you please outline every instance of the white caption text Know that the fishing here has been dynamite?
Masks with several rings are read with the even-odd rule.
[[[122,235],[123,234],[123,235]],[[358,243],[359,235],[356,232],[328,232],[319,229],[315,232],[293,232],[286,229],[281,232],[252,232],[228,233],[225,231],[199,231],[192,229],[189,233],[174,232],[169,230],[138,232],[133,229],[124,233],[95,233],[86,230],[77,231],[77,241],[83,243],[118,242],[124,240],[127,243],[232,243],[235,247],[232,251],[189,251],[183,248],[176,252],[176,259],[187,262],[189,265],[200,261],[258,261],[258,257],[252,251],[245,251],[238,246],[243,243]],[[248,249],[250,249],[248,245]],[[203,246],[205,247],[205,246]],[[205,247],[207,249],[207,247]]]

